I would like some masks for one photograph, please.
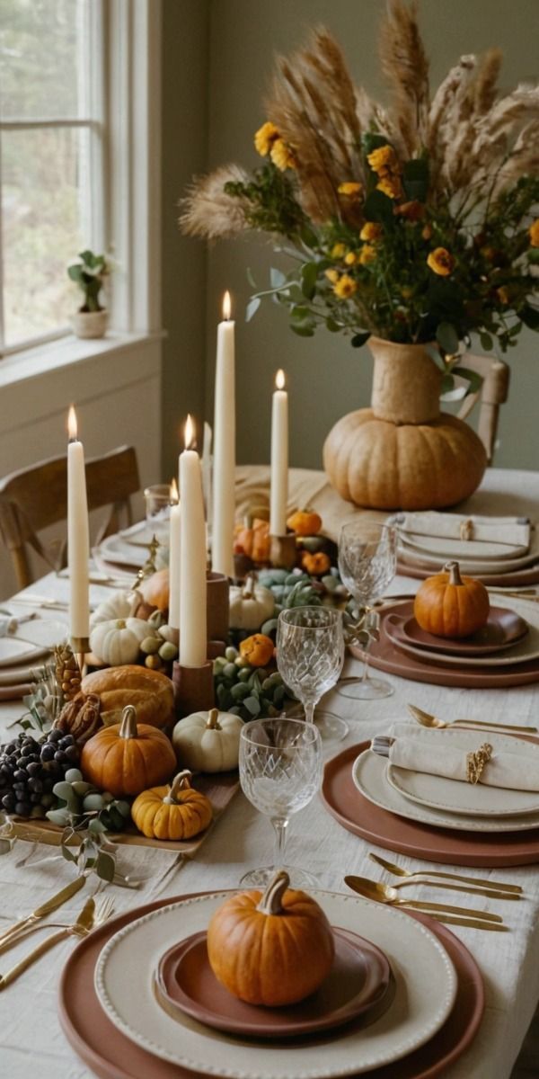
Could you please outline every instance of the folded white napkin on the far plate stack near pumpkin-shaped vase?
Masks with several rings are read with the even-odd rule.
[[[436,536],[443,540],[474,540],[529,547],[530,524],[523,517],[467,517],[464,514],[402,514],[398,519],[403,533]]]

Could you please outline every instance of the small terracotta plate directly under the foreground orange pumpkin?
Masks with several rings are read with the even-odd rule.
[[[207,934],[192,933],[160,960],[155,994],[172,1019],[188,1014],[207,1026],[253,1038],[293,1038],[331,1030],[385,1003],[391,968],[375,944],[348,929],[333,928],[335,956],[320,988],[306,1000],[260,1008],[238,1000],[218,982],[208,959]],[[389,1007],[389,994],[384,1010]],[[376,1017],[381,1011],[376,1009]]]

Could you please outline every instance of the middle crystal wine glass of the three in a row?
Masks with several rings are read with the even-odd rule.
[[[307,723],[315,707],[338,679],[344,664],[343,616],[322,606],[291,607],[277,620],[277,667],[284,682],[301,700]],[[338,715],[317,715],[322,739],[344,738],[348,726]]]

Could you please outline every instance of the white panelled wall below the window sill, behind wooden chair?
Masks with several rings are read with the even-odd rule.
[[[47,369],[42,353],[2,363],[0,476],[65,453],[73,402],[86,456],[134,446],[141,488],[161,481],[161,336],[124,334],[49,346]],[[142,516],[142,495],[134,510]],[[92,515],[92,532],[99,516]],[[46,572],[44,563],[36,569]],[[15,590],[11,558],[0,543],[0,599]]]

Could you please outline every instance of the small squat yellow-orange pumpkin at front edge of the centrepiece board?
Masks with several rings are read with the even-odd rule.
[[[190,839],[211,821],[211,802],[191,787],[191,773],[180,771],[169,787],[142,791],[132,806],[139,832],[152,839]]]

